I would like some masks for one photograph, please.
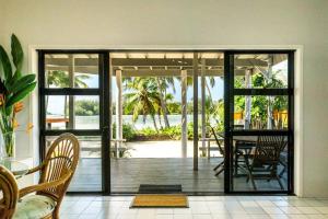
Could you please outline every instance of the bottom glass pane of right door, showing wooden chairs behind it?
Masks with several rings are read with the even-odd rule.
[[[286,191],[288,137],[234,136],[233,191]]]

